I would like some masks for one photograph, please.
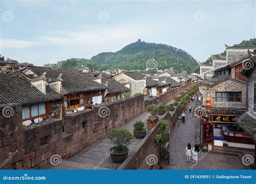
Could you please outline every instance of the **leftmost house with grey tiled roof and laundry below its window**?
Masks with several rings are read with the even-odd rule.
[[[0,74],[0,104],[21,103],[23,125],[38,123],[48,117],[62,118],[62,99],[44,76],[30,79],[16,71]]]

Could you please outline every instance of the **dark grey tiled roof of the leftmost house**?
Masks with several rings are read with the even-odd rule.
[[[0,104],[31,104],[60,100],[63,98],[50,86],[46,86],[46,94],[32,86],[30,80],[21,72],[0,74]]]

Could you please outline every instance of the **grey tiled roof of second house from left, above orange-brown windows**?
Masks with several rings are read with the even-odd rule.
[[[37,76],[42,76],[42,74],[46,72],[45,77],[48,81],[55,80],[60,74],[62,74],[62,88],[67,94],[106,89],[104,84],[92,81],[89,77],[84,75],[84,73],[81,73],[76,69],[52,69],[31,66],[28,68]]]

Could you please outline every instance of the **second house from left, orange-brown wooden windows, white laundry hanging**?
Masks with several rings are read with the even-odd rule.
[[[76,69],[51,69],[46,67],[28,67],[23,70],[31,79],[44,76],[50,87],[64,95],[65,111],[87,107],[90,102],[103,103],[106,87],[92,81]]]

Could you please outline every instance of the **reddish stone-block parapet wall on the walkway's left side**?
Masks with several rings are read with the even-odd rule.
[[[172,89],[149,101],[144,101],[143,95],[130,97],[64,115],[63,120],[47,119],[26,127],[22,125],[21,104],[0,105],[0,169],[39,169],[50,164],[50,158],[55,154],[70,158],[111,129],[141,114],[146,105],[167,103],[195,84]],[[4,110],[10,110],[11,114],[4,114]],[[156,147],[150,144],[153,149]],[[144,145],[146,148],[151,146]]]

